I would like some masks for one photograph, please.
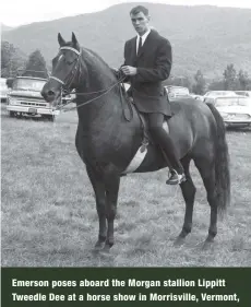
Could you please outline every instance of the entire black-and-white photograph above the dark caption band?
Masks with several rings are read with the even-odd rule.
[[[251,1],[0,22],[2,267],[251,267]]]

